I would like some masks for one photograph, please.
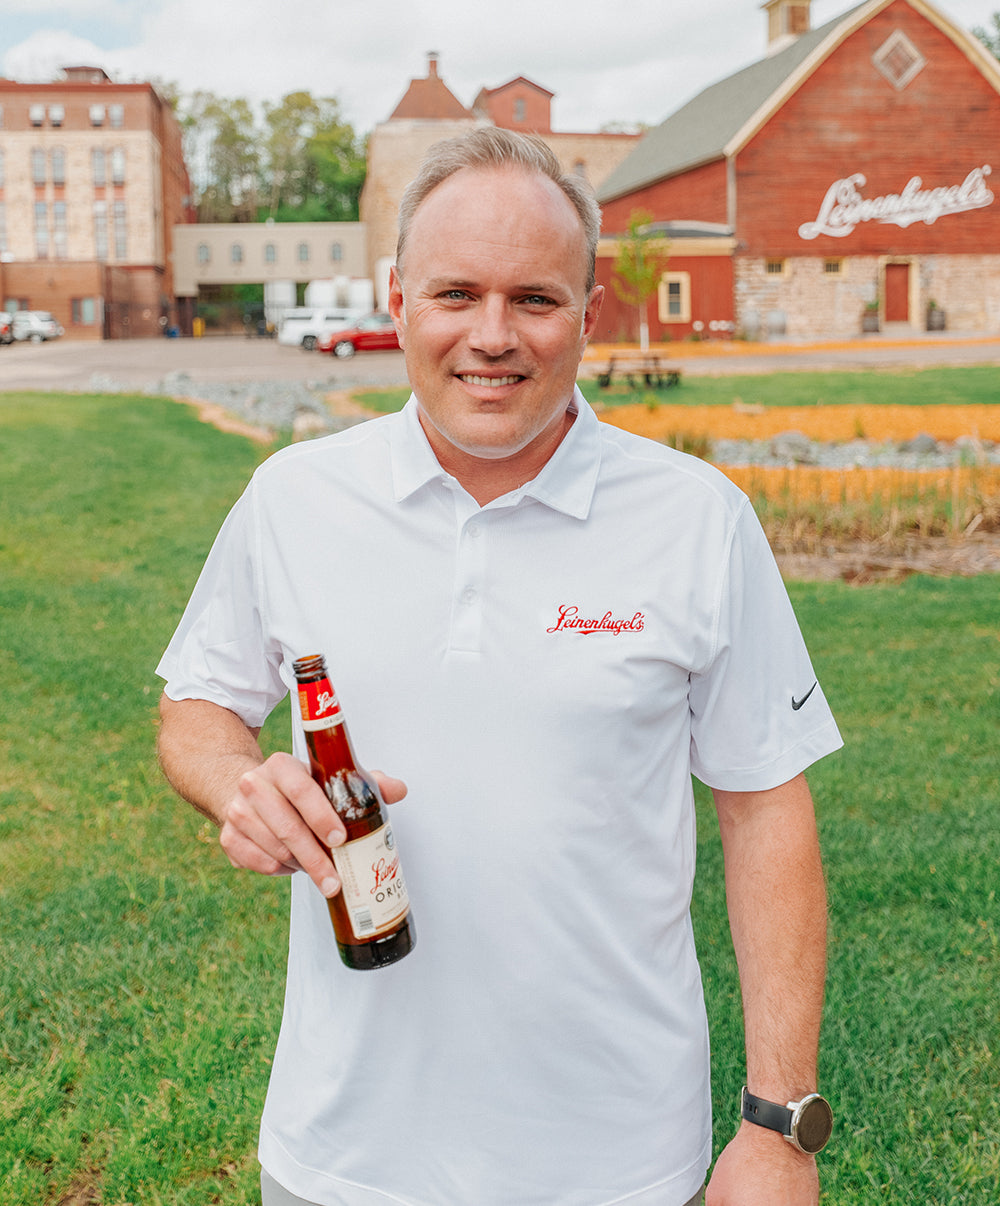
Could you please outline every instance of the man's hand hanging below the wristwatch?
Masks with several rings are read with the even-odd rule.
[[[817,1206],[815,1159],[777,1131],[743,1123],[715,1161],[704,1206]]]

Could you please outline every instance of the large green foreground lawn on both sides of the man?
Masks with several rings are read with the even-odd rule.
[[[145,397],[0,394],[0,1200],[253,1202],[287,883],[233,871],[160,780],[153,669],[262,453]],[[1000,580],[791,590],[848,743],[811,778],[838,1114],[824,1202],[986,1206]],[[700,826],[718,1148],[742,1032],[707,806]]]

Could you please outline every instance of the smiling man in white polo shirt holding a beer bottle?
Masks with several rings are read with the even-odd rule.
[[[575,373],[600,215],[544,145],[480,129],[410,186],[400,415],[267,462],[160,673],[160,757],[230,861],[292,879],[264,1202],[683,1206],[710,1160],[689,902],[714,791],[747,1083],[817,1088],[825,896],[802,771],[840,738],[747,499],[600,425]],[[259,725],[323,652],[393,810],[415,950],[345,970],[343,826]],[[387,800],[405,794],[382,779]],[[762,1107],[766,1108],[766,1107]],[[808,1206],[744,1122],[710,1206]]]

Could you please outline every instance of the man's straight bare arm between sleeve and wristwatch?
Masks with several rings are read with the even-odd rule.
[[[715,792],[739,967],[750,1091],[784,1103],[817,1089],[826,891],[803,777]]]

